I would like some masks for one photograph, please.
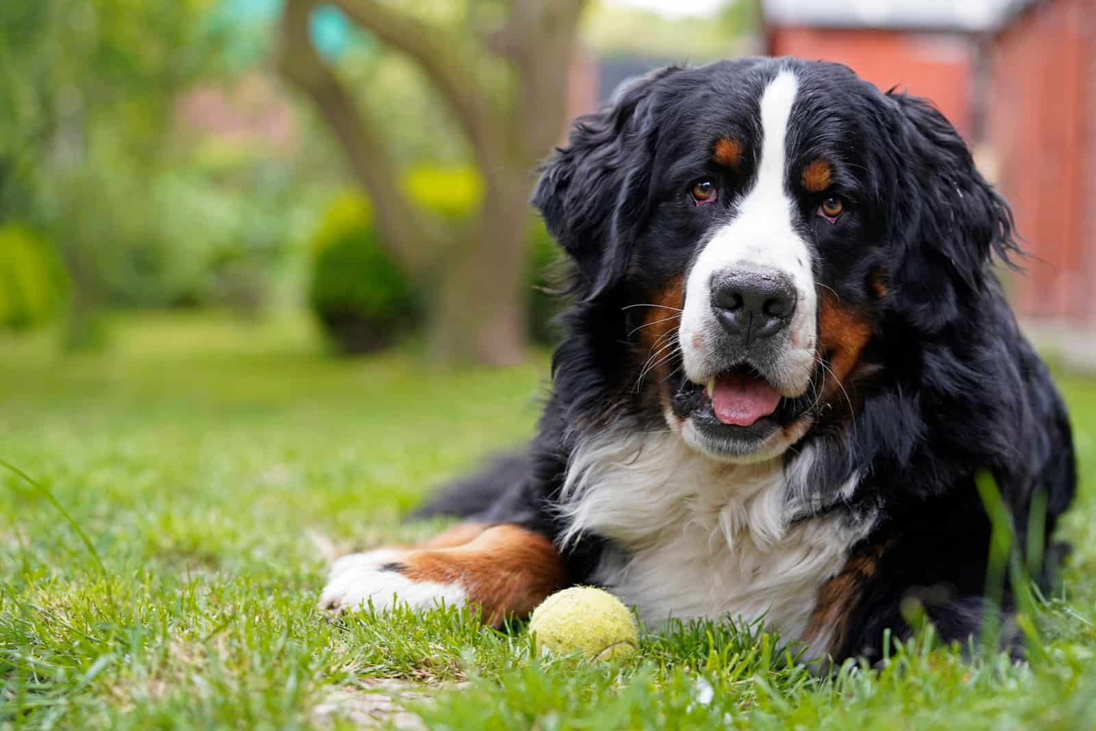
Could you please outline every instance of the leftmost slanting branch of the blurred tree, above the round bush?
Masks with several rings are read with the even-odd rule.
[[[400,174],[372,120],[357,108],[308,37],[316,0],[286,0],[282,15],[279,68],[304,91],[328,120],[351,170],[369,194],[377,224],[402,265],[415,270],[443,242],[431,214],[413,205],[400,188]]]

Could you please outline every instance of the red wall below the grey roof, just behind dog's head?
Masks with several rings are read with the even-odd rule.
[[[957,0],[961,2],[962,0]],[[963,35],[778,26],[769,54],[837,61],[883,91],[898,85],[936,104],[961,134],[971,131],[975,46]]]

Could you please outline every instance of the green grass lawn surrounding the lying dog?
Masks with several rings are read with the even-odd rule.
[[[0,457],[79,527],[0,471],[0,729],[311,728],[333,692],[377,678],[427,689],[407,704],[436,728],[1096,728],[1091,479],[1030,664],[922,637],[883,670],[822,681],[760,628],[711,623],[646,635],[626,664],[538,660],[521,628],[460,611],[332,623],[315,604],[318,542],[424,535],[398,515],[532,433],[543,359],[336,361],[296,320],[129,317],[115,333],[71,359],[45,336],[0,338]],[[1061,384],[1094,475],[1096,384]]]

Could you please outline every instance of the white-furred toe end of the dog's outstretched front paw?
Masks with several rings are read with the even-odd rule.
[[[406,552],[378,548],[364,554],[343,556],[331,566],[328,584],[320,593],[320,607],[339,612],[373,608],[387,612],[397,604],[415,610],[430,610],[465,603],[467,594],[460,584],[415,581],[399,571],[386,570],[386,564],[398,562]]]

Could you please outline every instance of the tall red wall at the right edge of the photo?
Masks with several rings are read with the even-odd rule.
[[[1015,278],[1020,315],[1096,324],[1096,11],[1038,3],[992,46],[998,185],[1038,259]]]

